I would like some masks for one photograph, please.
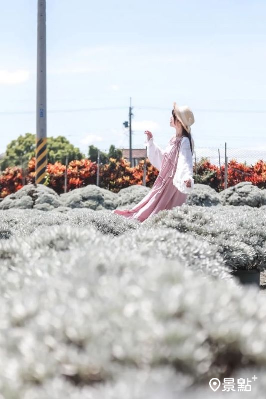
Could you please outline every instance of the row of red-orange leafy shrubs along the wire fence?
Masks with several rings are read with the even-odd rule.
[[[35,157],[28,162],[25,173],[26,184],[35,182]],[[136,167],[130,167],[129,162],[122,158],[116,160],[110,158],[109,162],[100,165],[99,181],[100,187],[118,192],[122,188],[135,184],[143,184],[144,160]],[[207,158],[202,158],[196,165],[194,164],[195,183],[208,184],[216,191],[224,189],[225,166],[213,165]],[[146,186],[152,187],[157,176],[158,170],[146,162]],[[232,159],[228,163],[228,187],[236,185],[241,181],[250,181],[260,188],[266,188],[266,162],[259,160],[253,166],[247,166],[238,163]],[[60,162],[47,165],[48,187],[53,188],[58,194],[64,192],[65,165]],[[88,184],[97,183],[97,164],[89,159],[71,161],[67,168],[67,191],[78,187],[84,187]],[[17,166],[6,168],[0,175],[0,198],[14,193],[22,188],[22,173]]]

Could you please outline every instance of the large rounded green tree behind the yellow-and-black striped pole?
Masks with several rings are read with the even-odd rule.
[[[12,140],[6,148],[5,156],[0,161],[1,170],[8,166],[19,166],[27,163],[35,154],[36,136],[32,133],[20,135]],[[65,157],[68,154],[68,162],[85,158],[79,148],[74,147],[64,136],[47,137],[48,163],[60,161],[65,164]]]

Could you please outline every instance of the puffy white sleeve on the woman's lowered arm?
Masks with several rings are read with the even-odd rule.
[[[184,194],[189,194],[194,188],[192,153],[188,137],[182,139],[178,154],[176,173],[173,184]],[[190,179],[191,187],[187,187],[184,180]]]

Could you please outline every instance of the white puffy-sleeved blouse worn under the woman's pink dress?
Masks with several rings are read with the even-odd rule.
[[[153,137],[148,140],[145,138],[144,144],[147,146],[147,156],[153,166],[156,169],[160,170],[163,160],[163,153],[170,152],[172,145],[170,141],[166,148],[163,150],[159,145],[157,145]],[[173,184],[175,187],[178,188],[184,194],[190,193],[194,188],[194,179],[193,179],[193,164],[192,164],[192,155],[194,153],[194,140],[191,137],[191,144],[192,144],[192,153],[190,149],[190,143],[188,137],[182,137],[179,154],[178,154],[178,161],[177,161],[177,168],[176,173],[173,177]],[[190,180],[191,187],[187,187],[184,180]]]

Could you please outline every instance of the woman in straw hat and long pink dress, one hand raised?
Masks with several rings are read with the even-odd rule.
[[[170,126],[176,134],[171,137],[165,150],[154,141],[153,135],[146,130],[145,144],[147,155],[159,174],[150,192],[132,209],[115,209],[112,213],[123,215],[129,219],[143,222],[149,216],[164,209],[181,206],[194,188],[192,154],[194,140],[190,126],[194,123],[194,115],[188,106],[180,106],[174,102]]]

